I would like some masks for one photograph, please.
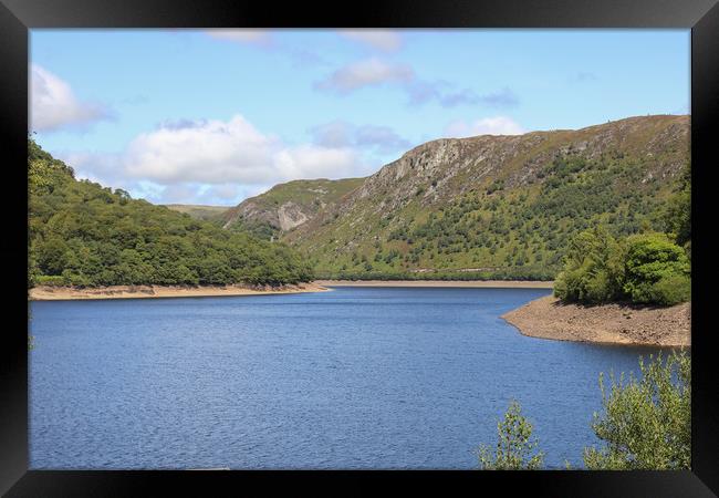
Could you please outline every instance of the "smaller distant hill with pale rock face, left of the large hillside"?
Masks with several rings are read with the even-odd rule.
[[[225,228],[249,229],[270,239],[311,220],[322,209],[332,209],[363,181],[364,178],[314,179],[275,185],[226,211]]]

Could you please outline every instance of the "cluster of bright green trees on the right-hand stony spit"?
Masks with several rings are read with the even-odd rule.
[[[671,305],[691,299],[691,172],[664,211],[669,231],[614,237],[595,227],[569,243],[554,294],[564,301]]]

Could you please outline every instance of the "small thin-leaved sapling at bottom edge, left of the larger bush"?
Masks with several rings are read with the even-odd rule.
[[[497,423],[497,449],[492,455],[486,445],[478,450],[479,466],[484,470],[533,470],[541,467],[544,454],[532,455],[539,442],[531,439],[532,424],[522,416],[520,404],[512,401],[504,419]]]

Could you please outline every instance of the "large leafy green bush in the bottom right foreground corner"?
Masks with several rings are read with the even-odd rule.
[[[639,359],[642,378],[624,374],[611,387],[600,375],[604,413],[594,414],[592,428],[605,446],[585,448],[588,469],[688,469],[691,463],[691,360],[673,353],[661,360]]]

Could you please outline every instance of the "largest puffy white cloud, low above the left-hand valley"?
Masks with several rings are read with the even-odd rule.
[[[237,198],[291,179],[347,177],[368,167],[348,145],[285,144],[241,115],[165,122],[117,154],[59,156],[81,177],[164,203]]]

